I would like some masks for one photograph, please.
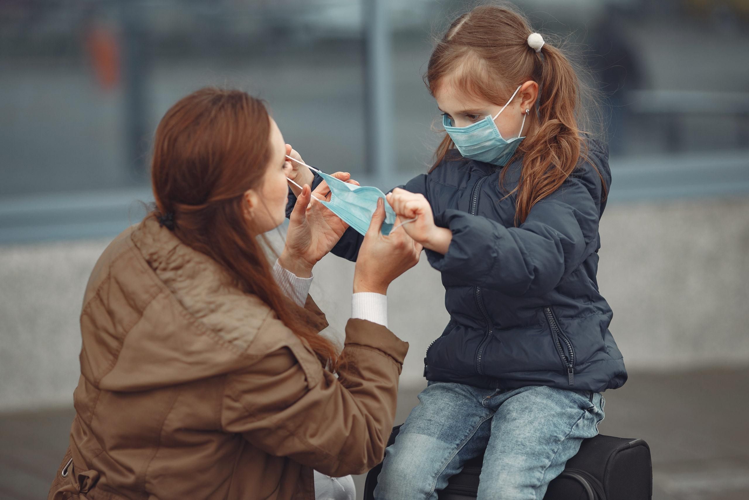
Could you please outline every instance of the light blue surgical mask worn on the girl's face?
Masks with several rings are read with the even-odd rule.
[[[521,85],[522,86],[522,85]],[[512,139],[504,139],[500,130],[497,129],[497,124],[494,120],[497,116],[505,110],[505,108],[512,103],[515,99],[515,95],[518,94],[520,87],[515,89],[515,93],[512,94],[510,100],[502,106],[500,112],[496,115],[487,115],[482,121],[477,121],[474,124],[470,124],[467,127],[452,127],[451,121],[447,118],[447,115],[443,115],[442,124],[445,127],[446,132],[449,134],[452,142],[455,143],[455,147],[461,152],[463,157],[470,158],[471,160],[483,161],[485,163],[492,163],[494,165],[504,166],[515,154],[515,150],[520,145],[520,142],[525,139],[520,134],[523,133],[523,127],[525,126],[525,118],[528,113],[523,115],[523,124],[520,126],[520,132],[518,136]]]

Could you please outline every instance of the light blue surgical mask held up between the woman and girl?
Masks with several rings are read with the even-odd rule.
[[[294,158],[289,157],[288,155],[287,157],[294,160]],[[377,198],[382,198],[383,203],[385,204],[385,220],[383,220],[380,232],[383,235],[390,234],[390,231],[392,231],[392,225],[395,223],[395,211],[392,210],[392,207],[387,202],[385,193],[374,186],[357,186],[356,184],[349,184],[348,182],[333,177],[333,175],[321,172],[320,170],[315,169],[315,167],[306,165],[306,163],[302,164],[315,170],[315,172],[318,172],[324,181],[327,182],[328,187],[330,187],[330,202],[327,202],[324,199],[315,198],[315,196],[312,197],[329,208],[333,214],[336,214],[349,226],[356,229],[360,235],[365,235],[367,229],[369,229],[369,223],[372,222],[372,215],[374,215],[375,210],[377,210]],[[296,183],[294,182],[294,184]],[[297,187],[299,187],[299,184],[297,184]]]

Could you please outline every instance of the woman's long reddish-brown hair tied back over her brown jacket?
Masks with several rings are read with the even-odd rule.
[[[243,195],[261,184],[269,161],[270,115],[261,100],[237,90],[195,91],[172,106],[156,130],[151,181],[157,211],[148,217],[173,214],[177,238],[219,262],[335,370],[336,349],[294,311],[246,219]]]

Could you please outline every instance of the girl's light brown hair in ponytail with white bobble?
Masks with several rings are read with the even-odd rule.
[[[527,43],[531,33],[530,22],[512,4],[475,7],[455,19],[437,41],[424,76],[432,97],[449,75],[461,91],[491,103],[505,103],[528,80],[539,84],[536,133],[515,153],[523,155],[520,181],[507,195],[517,196],[515,224],[523,223],[533,205],[557,190],[580,157],[586,157],[583,136],[592,129],[590,115],[598,106],[596,92],[577,77],[580,66],[548,41],[537,53]],[[431,169],[454,147],[445,134]],[[506,173],[504,169],[500,183]]]

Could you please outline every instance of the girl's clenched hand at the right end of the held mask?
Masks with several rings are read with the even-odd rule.
[[[403,225],[404,231],[411,238],[429,250],[447,253],[452,232],[434,225],[434,214],[424,195],[396,187],[392,193],[387,193],[387,202],[401,220],[416,219]]]

